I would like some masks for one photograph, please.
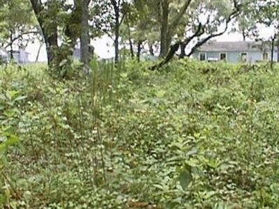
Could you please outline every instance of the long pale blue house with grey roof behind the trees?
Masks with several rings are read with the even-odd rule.
[[[271,47],[262,42],[237,41],[217,42],[211,41],[199,47],[193,57],[200,61],[227,61],[231,63],[271,61]],[[278,50],[273,51],[273,60],[278,60]]]

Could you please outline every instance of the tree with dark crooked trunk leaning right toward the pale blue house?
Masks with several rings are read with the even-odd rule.
[[[227,0],[194,1],[188,9],[187,16],[185,16],[186,23],[183,24],[186,27],[183,30],[185,33],[182,38],[176,40],[169,48],[165,59],[157,65],[153,65],[151,70],[155,70],[168,63],[179,47],[182,47],[182,55],[185,55],[185,47],[192,42],[193,47],[186,54],[186,56],[191,56],[198,47],[211,40],[211,38],[223,35],[228,29],[229,22],[232,22],[232,20],[239,16],[243,6],[244,4],[237,0],[232,2]],[[223,28],[220,29],[220,26],[223,26]]]

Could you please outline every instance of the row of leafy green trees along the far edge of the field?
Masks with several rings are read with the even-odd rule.
[[[114,41],[116,63],[124,47],[132,58],[156,54],[167,63],[228,30],[241,32],[243,40],[264,38],[278,45],[278,11],[272,0],[0,0],[0,44],[13,57],[13,47],[40,40],[48,64],[59,71],[71,64],[80,42],[88,70],[90,40],[106,35]],[[263,25],[273,36],[259,37]]]

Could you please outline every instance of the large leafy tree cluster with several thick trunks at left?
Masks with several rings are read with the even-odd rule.
[[[89,1],[75,0],[73,4],[55,0],[30,2],[43,33],[48,65],[55,69],[69,65],[78,38],[82,42],[82,61],[87,65],[89,35],[86,18]],[[85,30],[84,33],[82,29]],[[59,40],[62,41],[61,45]]]

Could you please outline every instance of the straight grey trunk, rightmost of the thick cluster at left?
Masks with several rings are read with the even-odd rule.
[[[84,72],[89,72],[89,1],[83,0],[81,5],[82,10],[82,31],[80,35],[80,52],[81,52],[81,61],[84,66]]]

